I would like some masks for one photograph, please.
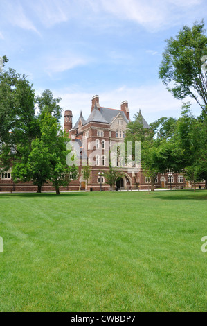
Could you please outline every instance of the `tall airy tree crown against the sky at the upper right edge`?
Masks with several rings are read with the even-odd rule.
[[[207,113],[207,36],[204,21],[183,26],[176,37],[166,40],[159,78],[175,98],[194,98]],[[203,69],[204,68],[204,69]]]

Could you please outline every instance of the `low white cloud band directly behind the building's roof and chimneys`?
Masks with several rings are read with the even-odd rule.
[[[97,93],[96,90],[92,94],[91,92],[73,92],[73,89],[56,89],[53,94],[62,98],[60,105],[64,110],[72,110],[74,125],[78,120],[80,110],[82,110],[84,119],[89,117],[91,98]],[[100,106],[106,108],[120,110],[120,103],[128,101],[131,119],[141,109],[143,117],[148,123],[161,117],[179,117],[181,113],[182,101],[173,98],[172,94],[161,83],[132,88],[124,85],[117,89],[111,89],[109,92],[100,92],[98,95]],[[190,99],[186,99],[184,102],[187,101],[190,101]],[[198,105],[194,105],[193,102],[192,108],[195,115],[200,114]]]

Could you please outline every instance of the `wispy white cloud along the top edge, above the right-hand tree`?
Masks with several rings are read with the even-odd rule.
[[[195,20],[195,10],[203,14],[204,0],[88,0],[96,12],[107,12],[121,20],[141,24],[148,31],[159,31],[180,24],[182,17]],[[98,4],[99,6],[98,6]],[[203,4],[203,8],[201,6]]]

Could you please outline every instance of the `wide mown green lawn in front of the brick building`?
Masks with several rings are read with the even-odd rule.
[[[0,311],[207,311],[207,191],[1,194]]]

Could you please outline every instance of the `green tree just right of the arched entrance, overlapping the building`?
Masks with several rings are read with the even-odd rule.
[[[161,118],[147,129],[143,127],[141,114],[136,114],[134,118],[127,126],[125,141],[132,141],[133,145],[135,141],[141,141],[141,167],[150,178],[151,190],[154,191],[157,174],[172,169],[172,162],[176,161],[177,147],[170,144],[176,119]]]

